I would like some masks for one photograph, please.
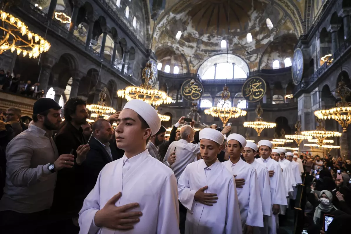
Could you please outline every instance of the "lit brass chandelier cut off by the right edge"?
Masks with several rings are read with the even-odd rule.
[[[344,81],[340,81],[336,92],[341,98],[341,101],[336,104],[336,107],[315,111],[314,115],[316,115],[318,119],[336,120],[345,133],[347,131],[347,126],[351,123],[351,103],[346,101],[346,97],[350,95],[350,89],[346,87]]]

